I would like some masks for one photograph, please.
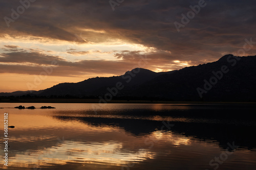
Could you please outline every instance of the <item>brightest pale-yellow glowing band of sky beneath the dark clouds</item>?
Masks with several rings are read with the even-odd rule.
[[[25,51],[36,51],[46,55],[61,56],[71,62],[82,59],[119,60],[114,57],[114,54],[123,50],[141,51],[142,54],[156,51],[153,47],[148,48],[142,44],[127,43],[118,39],[111,42],[79,43],[76,40],[69,42],[33,36],[10,37],[6,35],[0,42],[0,45],[8,44],[19,46],[20,49]],[[0,52],[6,53],[3,48],[0,49]]]

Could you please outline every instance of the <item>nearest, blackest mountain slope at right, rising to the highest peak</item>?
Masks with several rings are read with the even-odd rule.
[[[256,56],[223,56],[186,67],[141,85],[131,95],[175,101],[256,101]],[[202,97],[202,98],[201,98]]]

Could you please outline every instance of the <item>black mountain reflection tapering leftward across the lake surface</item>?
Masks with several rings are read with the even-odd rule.
[[[129,118],[104,118],[104,117],[72,117],[72,116],[54,116],[62,120],[80,120],[91,126],[111,126],[124,129],[137,137],[149,135],[156,130],[168,131],[163,128],[162,121],[145,120],[145,119],[129,119]],[[199,139],[205,142],[218,142],[220,147],[226,149],[227,143],[239,145],[240,148],[252,150],[256,148],[256,125],[236,125],[224,123],[187,123],[172,122],[174,127],[170,128],[170,132],[186,136],[189,138]]]

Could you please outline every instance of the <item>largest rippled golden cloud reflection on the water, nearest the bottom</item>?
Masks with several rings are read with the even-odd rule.
[[[156,153],[140,149],[123,152],[121,142],[82,143],[65,141],[58,146],[44,151],[16,154],[9,166],[35,167],[51,164],[66,164],[66,162],[87,162],[97,164],[124,165],[127,162],[140,162],[154,159]]]

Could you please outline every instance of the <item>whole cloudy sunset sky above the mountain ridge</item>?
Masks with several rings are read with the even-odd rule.
[[[256,55],[255,1],[1,0],[0,92]]]

